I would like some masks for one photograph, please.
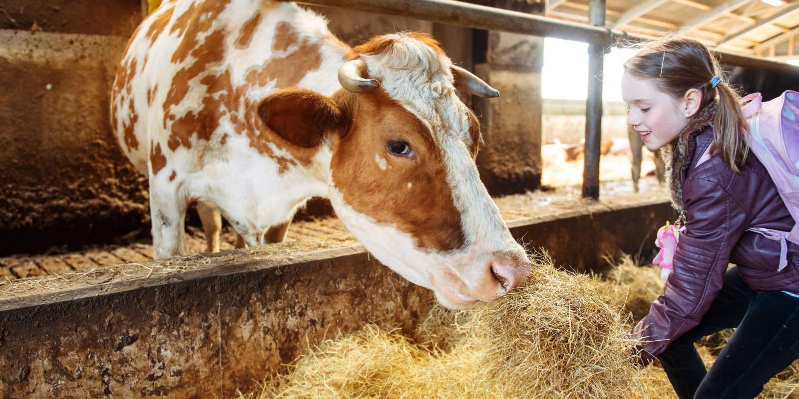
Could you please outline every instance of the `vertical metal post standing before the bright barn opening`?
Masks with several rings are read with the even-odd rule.
[[[605,0],[590,0],[589,23],[605,25]],[[599,198],[599,156],[602,142],[602,71],[605,46],[588,45],[588,97],[586,98],[586,144],[582,169],[582,196]]]

